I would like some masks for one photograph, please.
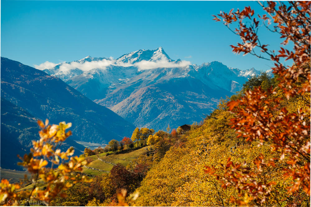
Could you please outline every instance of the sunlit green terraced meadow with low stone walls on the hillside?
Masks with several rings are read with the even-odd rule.
[[[106,156],[106,153],[102,153],[100,155],[100,159],[113,163],[113,164],[121,164],[123,166],[128,165],[133,159],[139,157],[139,155],[143,154],[146,150],[148,146],[140,148],[138,150],[131,150],[128,152],[124,152],[124,153],[118,153],[118,154],[114,154],[112,152],[112,154]],[[106,170],[106,171],[110,171],[113,168],[113,164],[109,164],[106,162],[103,162],[101,160],[98,160],[96,155],[92,155],[89,157],[86,157],[86,159],[91,159],[93,160],[91,163],[89,163],[87,166],[92,167],[92,168],[96,168],[96,169],[101,169],[101,170]],[[92,174],[92,175],[98,175],[98,174],[102,174],[104,172],[102,171],[98,171],[98,170],[93,170],[93,169],[87,169],[83,167],[83,173],[88,173],[88,174]]]

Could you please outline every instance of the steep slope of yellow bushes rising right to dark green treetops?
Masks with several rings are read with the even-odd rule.
[[[239,94],[220,103],[202,126],[193,126],[191,131],[180,135],[186,137],[187,141],[175,143],[164,158],[152,166],[137,189],[140,196],[131,205],[231,206],[236,203],[250,206],[308,206],[310,197],[307,189],[288,191],[296,182],[291,176],[285,176],[284,170],[291,166],[292,156],[282,154],[280,150],[273,151],[270,138],[260,144],[259,140],[248,142],[244,137],[237,137],[232,126],[234,115],[229,111],[228,101],[240,99],[245,90],[258,86],[264,88],[267,87],[266,83],[269,84],[267,88],[278,84],[275,78],[261,77],[257,78],[257,82],[249,81]],[[255,86],[256,83],[259,85]],[[284,94],[277,90],[269,97],[284,98]],[[305,121],[309,123],[309,101],[310,94],[307,93],[282,102],[282,106],[288,113],[303,110],[306,113]],[[297,168],[304,166],[308,158],[300,158],[299,162]],[[235,182],[241,184],[235,186]],[[258,184],[259,187],[248,183]]]

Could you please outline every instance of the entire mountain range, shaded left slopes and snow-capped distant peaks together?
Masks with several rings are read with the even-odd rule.
[[[87,56],[44,70],[1,57],[0,165],[20,169],[16,154],[39,138],[38,119],[72,122],[73,135],[61,148],[74,146],[79,155],[84,146],[74,140],[108,143],[130,137],[135,126],[157,131],[199,122],[258,74],[217,61],[175,61],[162,47],[117,59]]]

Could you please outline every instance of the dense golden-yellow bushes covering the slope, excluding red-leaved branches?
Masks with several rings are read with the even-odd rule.
[[[205,166],[222,166],[229,157],[233,162],[247,163],[253,170],[258,170],[253,160],[260,154],[265,160],[277,159],[281,153],[272,152],[270,143],[248,143],[237,138],[230,127],[232,114],[225,109],[218,109],[201,127],[191,131],[185,146],[172,146],[165,157],[154,165],[137,190],[140,196],[132,205],[137,206],[231,206],[232,199],[243,198],[240,205],[258,205],[245,192],[239,192],[233,186],[224,189],[214,176],[204,173]],[[151,137],[150,137],[151,138]],[[148,138],[149,139],[149,138]],[[286,205],[293,200],[287,192],[291,178],[283,178],[281,169],[289,160],[285,156],[275,167],[262,169],[257,182],[275,182],[271,196],[264,205]],[[222,172],[217,172],[221,174]],[[243,192],[243,194],[241,194]],[[308,196],[304,192],[294,200],[307,204]]]

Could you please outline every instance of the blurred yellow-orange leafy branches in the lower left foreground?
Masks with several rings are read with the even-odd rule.
[[[86,160],[81,157],[70,157],[74,153],[74,149],[71,147],[66,152],[62,152],[57,148],[58,142],[63,142],[72,133],[66,132],[66,129],[71,127],[71,123],[66,124],[60,122],[58,125],[49,125],[49,120],[46,119],[45,124],[42,121],[38,121],[38,125],[41,128],[39,132],[40,139],[33,141],[33,148],[29,154],[25,154],[21,158],[20,165],[27,168],[27,170],[35,175],[35,177],[41,178],[46,184],[45,189],[40,189],[38,181],[34,181],[33,188],[30,191],[24,191],[23,193],[16,194],[18,185],[8,184],[6,180],[1,182],[1,202],[6,205],[15,205],[22,199],[41,200],[49,202],[51,198],[56,196],[66,197],[66,194],[61,193],[63,190],[67,190],[72,184],[66,182],[68,179],[72,180],[73,184],[77,182],[88,182],[85,176],[81,176],[81,167],[87,164]],[[70,159],[69,159],[70,157]],[[69,159],[69,160],[68,160]],[[68,160],[67,162],[65,162]],[[50,168],[46,166],[51,164]],[[54,169],[53,165],[58,164],[58,169]],[[73,174],[77,172],[76,174]],[[3,200],[3,201],[2,201]]]

